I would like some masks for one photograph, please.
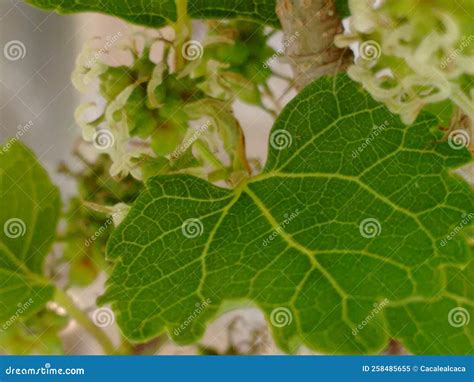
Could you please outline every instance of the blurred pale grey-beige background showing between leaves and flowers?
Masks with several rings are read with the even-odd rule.
[[[99,14],[59,16],[36,10],[18,0],[0,0],[0,142],[21,134],[37,154],[53,181],[61,189],[63,201],[76,194],[76,184],[57,171],[61,162],[74,167],[77,161],[72,151],[80,140],[80,129],[74,120],[74,110],[80,104],[80,94],[71,83],[75,60],[85,42],[95,36],[107,38],[126,36],[130,25]],[[200,28],[196,25],[197,33]],[[281,34],[271,42],[282,47]],[[8,47],[8,51],[7,51]],[[277,64],[281,73],[291,71],[284,63]],[[271,83],[275,94],[286,90],[284,81]],[[294,93],[281,100],[286,103]],[[237,102],[234,111],[246,133],[249,157],[262,161],[266,157],[267,139],[273,118],[262,110]],[[263,162],[264,163],[264,162]],[[56,248],[55,251],[60,251]],[[54,254],[53,254],[54,255]],[[65,270],[66,273],[66,270]],[[97,309],[95,299],[104,288],[105,277],[88,288],[73,290],[76,303],[92,315]],[[51,309],[61,313],[58,306]],[[115,324],[105,328],[118,343]],[[100,347],[87,332],[74,322],[62,331],[66,354],[99,354]],[[38,336],[37,341],[41,341]],[[197,346],[178,347],[164,341],[161,354],[194,354]],[[238,351],[258,354],[278,353],[271,340],[263,315],[249,307],[224,314],[207,330],[201,346],[219,352]],[[0,344],[0,352],[1,352]],[[202,350],[202,349],[201,349]],[[25,354],[30,349],[24,350]],[[303,350],[304,352],[304,350]]]

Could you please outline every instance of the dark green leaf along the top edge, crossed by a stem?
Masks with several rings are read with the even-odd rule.
[[[176,21],[175,0],[26,0],[58,13],[100,12],[135,24],[160,27]],[[193,18],[244,18],[278,26],[275,0],[188,0]]]

